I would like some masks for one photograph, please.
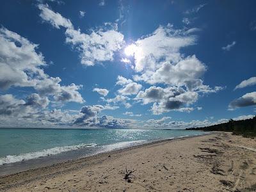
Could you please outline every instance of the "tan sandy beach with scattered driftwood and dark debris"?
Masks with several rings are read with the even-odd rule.
[[[0,177],[0,191],[256,191],[255,148],[225,132],[159,141]]]

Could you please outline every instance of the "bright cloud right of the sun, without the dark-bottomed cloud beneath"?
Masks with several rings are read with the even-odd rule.
[[[202,88],[204,84],[201,78],[207,67],[195,55],[185,57],[180,53],[182,47],[196,43],[196,36],[189,31],[191,29],[173,29],[168,24],[129,45],[125,49],[126,54],[134,57],[135,70],[139,73],[133,76],[134,80]]]

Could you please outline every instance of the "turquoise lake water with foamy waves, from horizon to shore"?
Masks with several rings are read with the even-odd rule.
[[[148,141],[204,133],[141,129],[0,129],[0,165],[84,148],[86,156],[92,150],[104,152]]]

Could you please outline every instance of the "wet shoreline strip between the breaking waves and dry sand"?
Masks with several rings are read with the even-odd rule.
[[[68,154],[68,153],[83,150],[83,149],[74,149],[74,150],[70,150],[70,151],[67,151],[67,152],[62,152],[60,154],[37,157],[37,158],[34,158],[34,159],[29,159],[29,160],[25,160],[25,161],[18,161],[18,162],[14,162],[14,163],[6,163],[6,164],[0,165],[0,170],[2,168],[2,172],[3,172],[3,173],[0,173],[0,178],[4,177],[4,176],[8,176],[8,175],[14,175],[14,174],[17,174],[17,173],[26,172],[26,171],[29,171],[29,170],[36,170],[38,168],[44,168],[44,167],[51,166],[51,165],[54,165],[54,164],[65,163],[65,162],[68,162],[68,161],[77,161],[79,159],[93,157],[93,156],[97,156],[99,154],[108,154],[109,152],[113,152],[113,151],[125,150],[125,149],[128,149],[128,148],[143,147],[144,145],[150,145],[151,143],[152,144],[153,143],[159,143],[159,142],[162,142],[162,141],[180,140],[182,138],[193,138],[193,137],[197,137],[197,136],[204,136],[206,134],[213,134],[213,132],[205,132],[204,134],[197,134],[197,135],[193,135],[193,136],[180,136],[180,137],[177,137],[177,138],[164,138],[164,139],[160,139],[160,140],[147,140],[147,141],[144,141],[143,143],[139,143],[138,145],[131,145],[131,146],[125,146],[125,147],[120,147],[120,148],[114,148],[113,150],[107,150],[107,151],[103,151],[103,152],[101,152],[99,150],[99,152],[96,152],[96,153],[92,152],[92,154],[89,153],[88,155],[85,155],[84,157],[66,157],[66,158],[63,158],[63,159],[61,159],[61,158],[60,159],[55,159],[54,158],[54,157],[60,157],[61,155],[65,155],[65,154]],[[134,142],[136,142],[136,141],[134,141]],[[49,161],[53,161],[54,163],[49,163]],[[24,167],[22,167],[22,164],[24,164],[24,163],[26,163],[26,164],[25,164],[25,166],[23,165]],[[31,164],[30,167],[27,164]],[[5,170],[4,170],[4,168],[5,168]],[[8,168],[10,169],[9,171],[8,171]],[[6,169],[7,169],[7,171],[6,171]]]

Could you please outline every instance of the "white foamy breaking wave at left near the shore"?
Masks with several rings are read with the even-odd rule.
[[[68,145],[63,147],[54,147],[54,148],[48,148],[44,150],[40,150],[37,152],[29,152],[26,154],[20,154],[17,156],[6,156],[3,158],[0,158],[0,165],[3,164],[9,164],[9,163],[16,163],[20,161],[25,161],[29,159],[36,159],[38,157],[45,157],[45,156],[51,156],[60,154],[62,152],[67,152],[70,150],[76,150],[79,148],[85,148],[85,147],[95,147],[97,144],[90,143],[90,144],[79,144],[79,145]]]

